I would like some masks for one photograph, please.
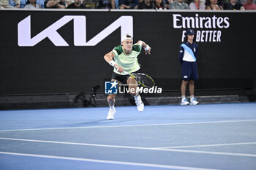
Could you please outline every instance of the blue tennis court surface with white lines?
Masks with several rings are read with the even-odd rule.
[[[256,169],[256,103],[0,112],[0,169]]]

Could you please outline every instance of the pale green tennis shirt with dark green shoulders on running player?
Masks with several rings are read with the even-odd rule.
[[[112,52],[115,54],[114,61],[118,66],[121,66],[124,71],[132,73],[136,72],[140,69],[140,64],[138,63],[138,55],[140,54],[141,47],[138,44],[132,45],[132,53],[126,55],[123,51],[123,47],[118,45],[114,47]],[[114,68],[114,72],[116,74],[124,75],[123,73],[117,72],[116,68]]]

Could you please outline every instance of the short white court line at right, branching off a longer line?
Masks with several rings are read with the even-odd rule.
[[[240,142],[240,143],[229,143],[229,144],[200,144],[200,145],[188,145],[188,146],[176,146],[176,147],[152,147],[152,148],[176,149],[176,148],[189,148],[189,147],[222,147],[222,146],[246,145],[246,144],[256,144],[256,142]]]

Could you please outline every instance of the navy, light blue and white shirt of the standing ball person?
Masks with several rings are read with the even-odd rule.
[[[198,46],[193,42],[190,44],[189,42],[184,42],[179,50],[179,61],[182,63],[183,61],[187,62],[195,62],[197,61],[198,54]]]

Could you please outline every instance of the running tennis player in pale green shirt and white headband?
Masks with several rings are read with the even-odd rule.
[[[118,82],[118,85],[127,84],[129,87],[129,93],[135,98],[138,111],[142,112],[144,109],[143,101],[141,100],[140,94],[136,92],[137,81],[123,72],[134,73],[138,72],[140,65],[138,63],[138,55],[140,54],[141,47],[144,48],[146,55],[150,54],[151,47],[146,45],[145,42],[139,40],[133,45],[132,36],[125,34],[121,36],[121,45],[114,47],[110,53],[104,55],[105,61],[110,66],[113,66],[113,74],[111,81]],[[116,94],[108,94],[108,105],[110,107],[108,111],[108,120],[114,119],[116,113],[115,109],[115,97]]]

